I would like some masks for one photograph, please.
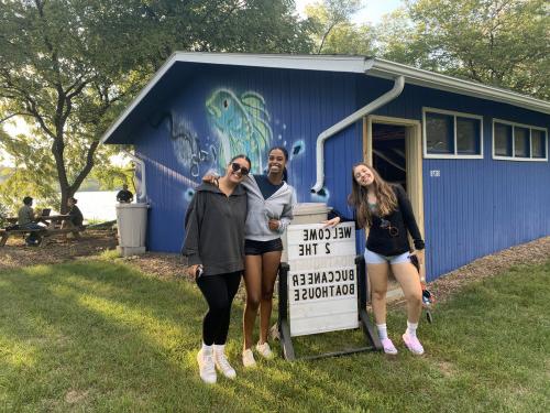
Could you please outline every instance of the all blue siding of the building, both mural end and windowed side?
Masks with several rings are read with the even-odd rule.
[[[299,202],[327,202],[351,214],[345,199],[351,165],[362,160],[361,122],[327,142],[323,196],[310,194],[316,181],[316,139],[392,86],[393,81],[352,74],[195,65],[173,85],[174,97],[144,119],[135,133],[135,150],[146,163],[152,203],[148,248],[179,250],[184,214],[194,187],[207,171],[220,171],[223,133],[228,138],[231,130],[243,130],[238,112],[218,118],[217,123],[216,108],[221,110],[222,94],[226,100],[239,101],[241,105],[234,106],[241,110],[246,108],[246,99],[256,100],[256,107],[249,108],[249,121],[261,126],[264,120],[268,128],[260,128],[256,135],[249,133],[248,138],[257,139],[260,133],[267,146],[287,148],[292,156],[289,183],[296,187]],[[376,115],[421,120],[422,107],[484,117],[483,160],[424,160],[429,278],[550,235],[549,163],[493,161],[491,155],[493,118],[549,128],[550,117],[411,85]],[[226,123],[224,132],[220,120]],[[431,170],[439,170],[440,176],[430,177]],[[363,246],[360,236],[358,247],[361,250]]]

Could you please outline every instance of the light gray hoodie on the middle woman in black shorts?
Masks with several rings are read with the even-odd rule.
[[[293,219],[293,207],[296,204],[294,188],[285,182],[275,194],[264,199],[254,175],[249,175],[242,185],[246,188],[249,199],[245,238],[255,241],[279,238]],[[280,221],[278,230],[271,230],[267,226],[271,218]]]

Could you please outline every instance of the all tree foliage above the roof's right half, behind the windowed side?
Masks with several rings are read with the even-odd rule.
[[[359,1],[307,9],[319,53],[375,54],[428,70],[550,98],[546,0],[405,0],[376,26],[353,24]]]

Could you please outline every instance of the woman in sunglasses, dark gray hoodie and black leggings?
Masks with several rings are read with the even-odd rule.
[[[197,354],[200,378],[206,383],[216,383],[216,369],[230,379],[237,376],[226,356],[226,341],[231,305],[244,268],[248,207],[241,183],[250,169],[248,156],[234,156],[218,185],[204,183],[197,187],[185,217],[182,253],[208,303],[202,347]]]

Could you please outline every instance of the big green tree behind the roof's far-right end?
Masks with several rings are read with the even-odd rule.
[[[548,99],[549,11],[546,0],[408,1],[380,41],[389,59]]]

